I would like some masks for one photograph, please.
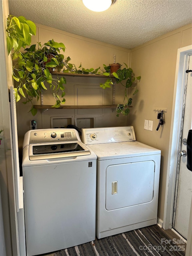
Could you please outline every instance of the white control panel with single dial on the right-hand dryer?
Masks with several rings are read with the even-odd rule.
[[[125,142],[136,140],[133,126],[82,128],[82,142],[85,145]]]

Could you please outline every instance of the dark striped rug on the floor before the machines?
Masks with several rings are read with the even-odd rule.
[[[184,256],[184,246],[169,239],[152,225],[63,249],[54,256]]]

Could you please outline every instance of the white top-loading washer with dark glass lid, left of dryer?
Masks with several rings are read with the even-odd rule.
[[[96,159],[75,129],[25,134],[22,171],[28,256],[95,239]]]

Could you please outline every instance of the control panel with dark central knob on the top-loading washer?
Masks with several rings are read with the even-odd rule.
[[[79,140],[79,134],[74,129],[45,129],[30,131],[29,143],[50,143]]]

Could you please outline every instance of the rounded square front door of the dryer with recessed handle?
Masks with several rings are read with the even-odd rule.
[[[154,161],[109,165],[106,169],[107,210],[114,210],[153,199]]]

